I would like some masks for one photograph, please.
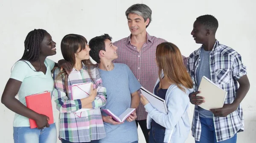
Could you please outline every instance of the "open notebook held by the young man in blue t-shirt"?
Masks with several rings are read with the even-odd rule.
[[[110,115],[113,120],[121,123],[121,122],[125,121],[126,118],[128,118],[128,116],[131,115],[131,113],[135,111],[135,109],[134,108],[127,108],[125,110],[125,112],[123,112],[119,116],[112,113],[109,109],[102,109],[102,111],[104,111],[107,115]]]

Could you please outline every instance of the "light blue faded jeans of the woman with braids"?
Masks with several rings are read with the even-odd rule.
[[[45,129],[30,129],[30,127],[13,127],[14,143],[56,143],[57,130],[55,123]]]

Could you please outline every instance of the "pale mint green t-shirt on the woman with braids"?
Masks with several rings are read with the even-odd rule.
[[[25,106],[26,96],[43,93],[44,91],[49,91],[50,93],[52,93],[52,90],[54,89],[51,70],[53,69],[55,62],[50,59],[45,59],[44,64],[47,67],[45,75],[43,72],[34,71],[35,68],[28,61],[18,61],[15,63],[12,69],[10,78],[22,81],[20,90],[18,92],[18,98],[19,101]],[[13,126],[30,126],[29,118],[15,113]]]

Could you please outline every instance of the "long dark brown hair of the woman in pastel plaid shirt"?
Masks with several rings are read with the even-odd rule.
[[[67,62],[70,62],[72,67],[74,67],[74,65],[76,64],[75,53],[77,52],[77,50],[79,48],[80,48],[80,51],[84,50],[86,44],[87,44],[87,39],[84,38],[84,36],[81,36],[81,35],[78,35],[78,34],[67,34],[61,40],[61,53],[62,53],[63,58]],[[90,79],[93,81],[93,78],[91,76],[92,75],[91,74],[91,68],[94,67],[94,64],[90,61],[90,59],[82,60],[82,62],[87,67],[87,71],[89,73]],[[67,90],[68,90],[68,86],[67,86],[68,74],[64,70],[57,76],[57,78],[60,78],[60,76],[64,79],[64,84],[65,84],[64,86],[65,86],[65,90],[66,90],[66,93],[67,93]]]

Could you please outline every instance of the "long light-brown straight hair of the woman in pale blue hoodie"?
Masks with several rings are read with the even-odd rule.
[[[156,62],[159,68],[158,77],[160,79],[159,90],[162,86],[162,71],[167,81],[176,84],[178,88],[185,92],[186,88],[192,88],[193,82],[183,64],[179,48],[170,42],[163,42],[157,45],[156,49]],[[182,87],[183,86],[183,87]]]

